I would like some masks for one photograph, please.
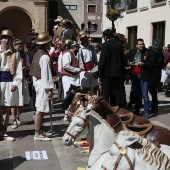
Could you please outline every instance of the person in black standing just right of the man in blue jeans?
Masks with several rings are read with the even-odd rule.
[[[164,54],[161,50],[159,40],[153,40],[151,53],[154,56],[155,66],[149,81],[149,93],[152,96],[151,110],[149,113],[157,115],[158,113],[157,86],[161,80],[161,70],[164,68]]]

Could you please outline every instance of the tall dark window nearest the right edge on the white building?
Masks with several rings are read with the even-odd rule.
[[[165,45],[165,22],[153,23],[153,36],[152,40],[157,39],[161,41],[161,46]]]

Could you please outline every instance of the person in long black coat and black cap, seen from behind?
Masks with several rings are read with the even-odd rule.
[[[124,89],[124,50],[113,38],[113,32],[103,32],[105,42],[102,44],[98,73],[102,82],[102,96],[111,106],[125,107]],[[124,91],[124,94],[123,94]],[[122,95],[123,94],[123,95]]]

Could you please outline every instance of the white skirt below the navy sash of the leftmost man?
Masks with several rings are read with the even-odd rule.
[[[11,92],[13,82],[0,82],[0,106],[17,106],[19,103],[18,88]]]

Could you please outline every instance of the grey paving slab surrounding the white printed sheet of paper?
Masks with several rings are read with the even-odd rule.
[[[25,160],[25,151],[45,150],[48,160]],[[13,146],[13,167],[17,170],[61,170],[58,159],[51,142],[34,141],[33,139],[22,139],[14,142]]]

